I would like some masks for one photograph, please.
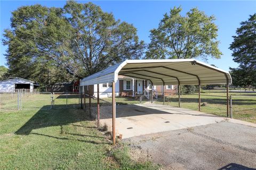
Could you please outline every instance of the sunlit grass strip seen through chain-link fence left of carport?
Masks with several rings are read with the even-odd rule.
[[[80,108],[81,95],[78,92],[17,92],[0,93],[0,109],[4,111]]]

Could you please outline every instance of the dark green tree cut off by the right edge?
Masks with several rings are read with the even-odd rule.
[[[241,22],[229,49],[238,68],[230,68],[235,86],[256,86],[256,14]]]

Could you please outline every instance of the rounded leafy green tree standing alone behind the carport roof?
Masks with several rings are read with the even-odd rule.
[[[181,16],[181,7],[174,7],[164,14],[158,28],[150,32],[151,42],[146,58],[220,58],[217,25],[214,16],[207,16],[197,8],[192,8],[186,16]]]

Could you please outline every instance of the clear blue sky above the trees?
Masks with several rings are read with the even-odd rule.
[[[78,1],[86,3],[87,1]],[[116,19],[132,23],[138,29],[138,36],[146,43],[150,42],[149,30],[157,28],[163,14],[170,11],[174,6],[181,6],[185,14],[193,7],[198,7],[207,15],[214,15],[215,24],[218,25],[219,48],[223,53],[221,59],[208,61],[220,69],[229,70],[229,67],[237,67],[233,62],[231,51],[228,49],[233,41],[231,36],[235,35],[236,28],[241,21],[249,18],[250,14],[256,12],[256,1],[92,1],[101,6],[105,12],[112,12]],[[62,7],[66,1],[2,1],[0,0],[0,28],[1,39],[3,30],[10,28],[11,12],[22,5],[42,4],[44,6]],[[4,57],[6,47],[1,43],[0,65],[5,65]],[[200,60],[198,58],[198,60]]]

